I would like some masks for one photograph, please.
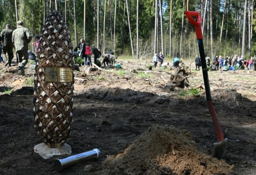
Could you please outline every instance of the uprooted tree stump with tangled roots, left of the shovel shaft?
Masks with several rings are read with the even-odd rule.
[[[182,67],[178,67],[178,69],[175,69],[174,71],[175,73],[171,75],[168,83],[175,84],[175,86],[179,88],[189,87],[190,85],[188,78],[193,76],[195,73]]]

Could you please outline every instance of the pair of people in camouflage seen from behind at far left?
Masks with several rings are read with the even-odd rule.
[[[13,47],[17,55],[17,70],[24,74],[24,68],[28,62],[28,44],[32,40],[32,35],[27,28],[24,27],[22,21],[17,22],[17,29],[11,30],[11,26],[7,24],[5,29],[0,33],[0,53],[2,53],[6,62],[5,66],[12,66]],[[8,55],[8,59],[7,56]],[[1,55],[1,54],[0,54]]]

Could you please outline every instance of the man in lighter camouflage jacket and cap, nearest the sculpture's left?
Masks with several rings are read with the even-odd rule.
[[[22,21],[18,21],[17,25],[17,29],[13,31],[12,41],[16,49],[16,55],[19,59],[17,69],[24,75],[24,68],[28,63],[28,43],[32,40],[32,35],[28,29],[24,27]]]

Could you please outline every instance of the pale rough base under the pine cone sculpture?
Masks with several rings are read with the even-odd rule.
[[[50,148],[45,143],[39,143],[35,145],[34,152],[42,158],[48,159],[55,155],[71,154],[71,147],[67,143],[64,143],[60,148]]]

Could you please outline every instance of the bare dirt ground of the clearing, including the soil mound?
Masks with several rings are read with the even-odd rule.
[[[226,154],[218,160],[210,156],[217,137],[204,90],[181,96],[188,90],[164,88],[173,70],[153,68],[145,74],[148,61],[117,61],[123,70],[86,73],[80,67],[75,72],[83,80],[75,80],[67,143],[72,155],[98,148],[102,156],[60,172],[52,163],[67,155],[44,160],[33,150],[42,142],[33,122],[33,63],[27,64],[26,76],[0,64],[0,174],[256,175],[255,72],[208,72],[228,138]],[[189,84],[196,87],[203,82],[202,72],[193,72]]]

